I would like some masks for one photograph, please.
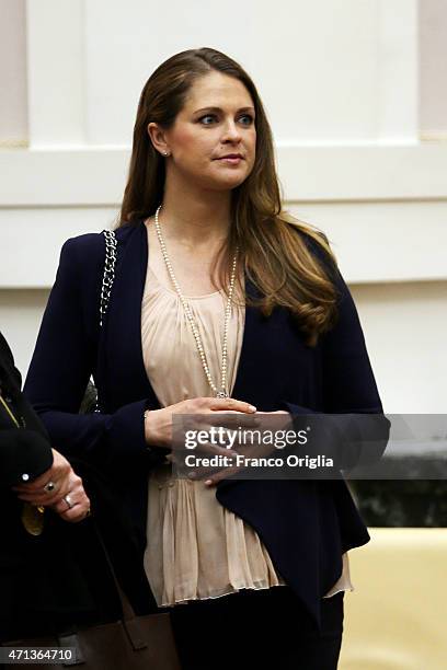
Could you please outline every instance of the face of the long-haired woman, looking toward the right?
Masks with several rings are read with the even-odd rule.
[[[254,114],[238,79],[217,71],[197,79],[174,125],[163,132],[171,154],[168,176],[171,171],[195,187],[216,190],[239,186],[254,164]]]

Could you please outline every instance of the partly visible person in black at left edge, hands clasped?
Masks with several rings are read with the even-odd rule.
[[[0,642],[49,635],[87,622],[94,603],[74,544],[90,499],[70,463],[21,393],[21,376],[0,333]]]

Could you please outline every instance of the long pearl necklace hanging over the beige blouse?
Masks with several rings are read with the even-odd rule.
[[[161,247],[161,254],[163,256],[169,276],[171,277],[171,281],[174,285],[175,291],[183,304],[183,309],[185,310],[185,314],[187,316],[187,320],[191,324],[191,328],[193,331],[193,335],[194,335],[194,339],[196,343],[196,347],[197,347],[197,351],[198,355],[200,357],[200,361],[202,361],[202,367],[204,369],[204,372],[206,374],[206,378],[208,380],[208,383],[210,385],[210,388],[213,389],[216,397],[228,397],[228,392],[227,392],[227,354],[228,354],[228,325],[229,325],[229,321],[230,321],[230,314],[231,314],[231,297],[233,294],[233,290],[234,290],[234,278],[236,278],[236,262],[237,262],[237,257],[238,257],[238,251],[239,249],[236,249],[236,253],[234,253],[234,257],[232,261],[232,265],[231,265],[231,277],[230,277],[230,286],[228,289],[228,300],[227,300],[227,307],[225,310],[225,322],[224,322],[224,343],[222,343],[222,365],[221,365],[221,376],[220,376],[220,391],[217,389],[216,384],[214,383],[210,372],[209,372],[209,367],[208,367],[208,362],[206,360],[206,356],[205,356],[205,350],[204,350],[204,346],[202,343],[202,338],[200,338],[200,334],[198,332],[197,328],[197,324],[195,322],[194,315],[192,313],[192,311],[190,310],[190,305],[185,300],[185,297],[183,296],[179,282],[175,278],[174,275],[174,270],[172,269],[172,265],[171,265],[171,261],[169,259],[168,256],[168,251],[167,251],[167,245],[164,243],[163,236],[161,234],[161,229],[160,229],[160,222],[159,222],[159,212],[161,209],[161,205],[160,207],[157,209],[156,211],[156,231],[157,231],[157,236],[159,239],[160,242],[160,247]]]

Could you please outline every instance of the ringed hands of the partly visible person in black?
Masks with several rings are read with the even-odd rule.
[[[20,500],[53,509],[65,521],[79,522],[90,515],[90,499],[70,463],[51,449],[53,465],[33,482],[12,489]]]

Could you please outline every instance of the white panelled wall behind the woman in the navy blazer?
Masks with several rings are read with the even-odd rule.
[[[259,85],[286,204],[333,243],[386,409],[446,411],[447,143],[420,140],[431,42],[417,0],[25,9],[27,96],[14,104],[30,149],[0,151],[0,326],[22,370],[61,243],[106,228],[118,208],[146,79],[173,53],[214,46]],[[15,19],[3,32],[20,33],[16,12],[4,15]],[[445,3],[436,16],[447,25]],[[7,77],[0,60],[0,85]]]

